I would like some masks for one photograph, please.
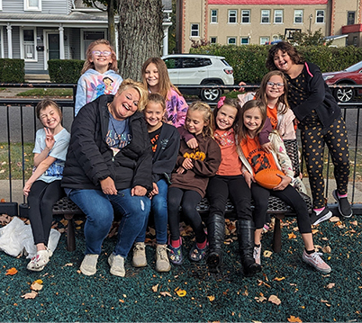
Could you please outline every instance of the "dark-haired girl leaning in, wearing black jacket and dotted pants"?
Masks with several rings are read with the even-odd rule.
[[[339,213],[352,216],[347,199],[349,157],[346,124],[339,105],[316,65],[306,62],[288,42],[274,45],[267,56],[267,67],[279,69],[288,83],[288,103],[301,130],[303,157],[311,184],[312,224],[328,220],[331,212],[324,202],[323,151],[325,144],[334,165],[337,190],[333,196],[339,203]]]

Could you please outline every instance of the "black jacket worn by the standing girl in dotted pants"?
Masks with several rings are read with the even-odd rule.
[[[328,128],[340,115],[339,105],[331,94],[329,86],[324,82],[319,67],[309,62],[304,63],[302,73],[308,81],[309,96],[298,106],[290,103],[291,108],[299,121],[303,121],[312,110],[315,110],[323,127]]]

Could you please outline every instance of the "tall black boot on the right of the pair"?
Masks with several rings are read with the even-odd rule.
[[[251,220],[238,220],[238,240],[241,265],[244,276],[251,277],[261,272],[261,265],[254,260],[254,222]]]

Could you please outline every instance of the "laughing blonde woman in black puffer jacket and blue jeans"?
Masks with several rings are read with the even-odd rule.
[[[147,95],[140,83],[124,80],[117,94],[87,103],[73,122],[62,187],[86,214],[83,274],[95,274],[116,212],[122,220],[108,263],[111,274],[124,276],[124,260],[148,218],[152,155],[140,112]]]

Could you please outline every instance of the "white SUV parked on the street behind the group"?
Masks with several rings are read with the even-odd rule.
[[[174,85],[233,85],[232,67],[222,56],[172,54],[163,56],[168,76]],[[185,89],[185,94],[197,94],[206,102],[216,102],[222,89]]]

